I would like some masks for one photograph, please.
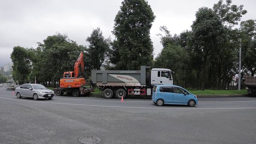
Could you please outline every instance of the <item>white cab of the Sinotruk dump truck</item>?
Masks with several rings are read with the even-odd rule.
[[[172,71],[166,68],[153,68],[151,70],[151,86],[155,84],[173,84]]]

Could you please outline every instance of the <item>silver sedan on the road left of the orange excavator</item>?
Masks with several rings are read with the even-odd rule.
[[[29,97],[34,100],[46,99],[51,100],[54,97],[54,91],[46,88],[42,84],[22,84],[14,90],[17,98]]]

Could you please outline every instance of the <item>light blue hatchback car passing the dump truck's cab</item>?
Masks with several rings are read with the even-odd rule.
[[[164,104],[195,106],[198,104],[196,95],[175,85],[155,85],[152,93],[152,101],[157,106]]]

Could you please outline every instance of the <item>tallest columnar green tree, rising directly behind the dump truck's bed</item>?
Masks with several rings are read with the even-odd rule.
[[[145,0],[124,0],[114,20],[113,34],[118,41],[120,60],[115,63],[123,70],[138,70],[140,65],[152,65],[153,45],[150,28],[155,16]]]

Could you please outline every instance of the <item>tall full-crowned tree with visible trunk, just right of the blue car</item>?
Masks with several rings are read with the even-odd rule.
[[[224,27],[218,15],[210,8],[200,8],[192,24],[193,50],[203,58],[202,78],[207,77],[209,58],[218,51],[225,40]],[[205,81],[202,81],[204,90]]]

